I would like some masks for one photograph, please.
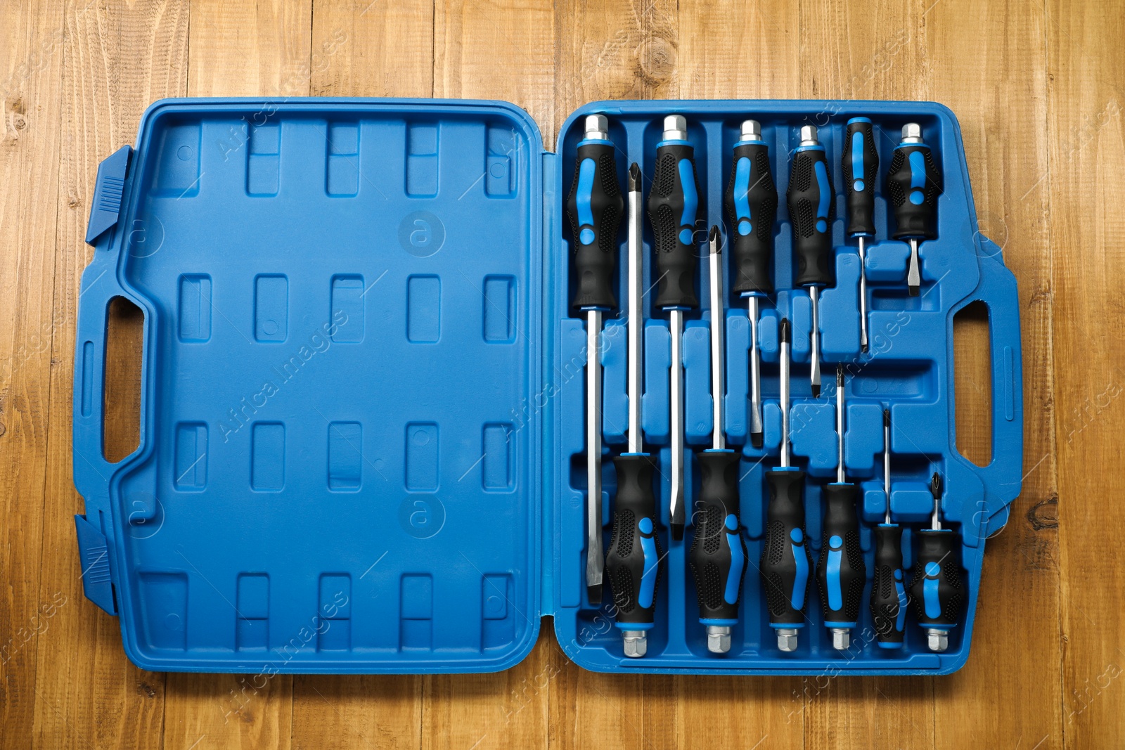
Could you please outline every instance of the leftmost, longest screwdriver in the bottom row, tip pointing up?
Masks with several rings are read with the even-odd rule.
[[[652,460],[644,452],[640,426],[644,328],[641,315],[640,168],[629,168],[629,451],[613,459],[618,494],[605,572],[616,607],[616,626],[630,658],[648,652],[656,591],[660,584],[660,541],[656,535]]]

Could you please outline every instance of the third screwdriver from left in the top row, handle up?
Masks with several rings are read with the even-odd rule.
[[[762,125],[744,120],[735,144],[730,181],[723,200],[732,228],[735,282],[731,288],[746,298],[750,320],[750,444],[762,448],[762,358],[758,353],[758,298],[773,291],[770,256],[777,218],[777,188],[770,172],[770,147],[762,139]]]

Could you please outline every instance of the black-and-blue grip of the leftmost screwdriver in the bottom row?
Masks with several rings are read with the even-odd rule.
[[[648,453],[622,453],[613,459],[618,493],[613,500],[613,531],[605,572],[623,630],[652,626],[660,586],[660,542],[656,535],[656,496]]]

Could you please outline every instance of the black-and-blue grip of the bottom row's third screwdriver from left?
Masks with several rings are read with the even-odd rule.
[[[812,568],[804,532],[804,472],[782,467],[766,472],[770,505],[758,569],[773,627],[801,627]]]

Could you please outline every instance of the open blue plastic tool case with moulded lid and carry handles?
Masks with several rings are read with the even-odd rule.
[[[726,656],[708,652],[684,541],[666,552],[648,654],[627,659],[612,607],[586,599],[584,319],[570,307],[574,180],[583,117],[609,117],[621,184],[630,162],[648,195],[662,119],[688,121],[700,228],[728,231],[722,195],[739,124],[762,123],[778,192],[801,125],[820,128],[837,210],[836,286],[821,298],[826,372],[848,368],[846,468],[861,484],[861,543],[883,519],[882,410],[894,430],[891,507],[929,523],[930,473],[960,533],[966,606],[945,653],[908,617],[904,648],[831,648],[816,606],[796,651],[775,648],[755,563],[764,471],[776,461],[777,322],[793,325],[792,449],[807,470],[808,537],[820,548],[821,488],[836,476],[835,407],[807,378],[810,307],[792,291],[791,223],[774,227],[777,293],[763,304],[762,449],[747,440],[745,307],[728,293],[728,441],[741,451],[749,571]],[[945,177],[938,236],[924,243],[924,293],[889,240],[882,180],[868,245],[870,351],[858,340],[858,256],[845,237],[845,123],[870,117],[882,164],[907,121],[922,126]],[[705,219],[705,220],[704,220]],[[645,222],[646,259],[651,243]],[[626,232],[619,235],[624,246]],[[701,235],[702,237],[702,235]],[[964,665],[984,540],[1007,521],[1022,477],[1022,360],[1016,283],[978,231],[956,119],[928,102],[610,101],[564,124],[557,151],[501,101],[166,99],[137,145],[106,159],[91,200],[74,362],[75,516],[86,595],[120,618],[129,658],[153,670],[468,672],[502,670],[532,649],[541,615],[559,644],[600,671],[944,674]],[[702,247],[702,245],[701,245]],[[700,299],[706,298],[700,253]],[[614,275],[626,295],[623,263]],[[729,272],[729,270],[728,270]],[[645,288],[656,279],[645,268]],[[729,284],[726,287],[729,290]],[[140,446],[102,454],[107,309],[144,314]],[[953,316],[989,309],[992,459],[955,448]],[[622,304],[623,307],[623,304]],[[646,446],[670,460],[667,315],[645,305]],[[692,452],[711,433],[710,315],[683,336],[688,507]],[[624,314],[603,334],[604,517],[609,457],[624,450]],[[830,377],[828,378],[830,379]],[[666,475],[666,471],[660,471]],[[867,585],[870,590],[870,582]],[[811,589],[810,589],[811,590]],[[866,596],[866,591],[865,591]],[[609,599],[609,597],[606,597]]]

